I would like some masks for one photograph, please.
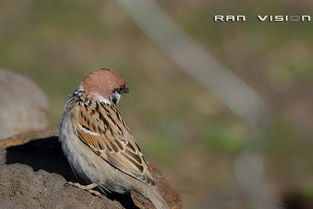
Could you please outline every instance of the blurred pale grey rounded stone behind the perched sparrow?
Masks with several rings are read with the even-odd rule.
[[[0,69],[0,98],[0,138],[47,127],[47,98],[27,77]]]

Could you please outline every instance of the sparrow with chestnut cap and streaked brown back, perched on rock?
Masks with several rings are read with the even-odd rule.
[[[71,185],[117,193],[135,191],[157,209],[169,206],[128,126],[117,110],[121,95],[129,89],[111,69],[89,73],[70,94],[60,121],[62,150],[74,173],[89,183]],[[105,193],[105,192],[104,192]]]

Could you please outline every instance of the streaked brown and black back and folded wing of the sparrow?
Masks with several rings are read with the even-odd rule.
[[[74,109],[78,122],[75,128],[82,142],[116,169],[146,184],[154,184],[133,136],[115,107],[93,102]]]

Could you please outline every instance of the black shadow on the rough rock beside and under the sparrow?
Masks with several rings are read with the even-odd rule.
[[[66,181],[86,184],[77,178],[68,164],[58,142],[58,137],[52,136],[41,140],[30,141],[26,144],[9,147],[6,152],[6,164],[25,164],[34,171],[44,170],[63,176]],[[125,208],[138,207],[134,204],[130,194],[107,193],[111,200],[117,200]]]

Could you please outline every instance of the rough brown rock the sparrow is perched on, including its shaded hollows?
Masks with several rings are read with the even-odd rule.
[[[57,131],[29,132],[0,143],[0,208],[122,209],[154,208],[141,195],[107,194],[102,198],[66,181],[78,181],[68,165]],[[162,196],[172,208],[181,208],[178,194],[162,174],[149,166]],[[80,182],[83,183],[83,182]]]

